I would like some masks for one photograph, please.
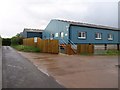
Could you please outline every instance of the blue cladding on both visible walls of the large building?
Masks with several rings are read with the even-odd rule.
[[[66,27],[67,26],[67,27]],[[70,26],[70,28],[69,28]],[[68,30],[67,30],[68,28]],[[78,39],[78,32],[87,32],[87,38],[86,39]],[[48,24],[48,26],[43,31],[43,39],[50,39],[51,34],[59,33],[59,37],[54,39],[60,40],[60,32],[64,32],[64,40],[68,43],[68,38],[70,38],[75,44],[88,44],[88,43],[94,43],[94,44],[116,44],[120,43],[118,42],[118,31],[115,30],[106,30],[106,29],[97,29],[97,28],[88,28],[88,27],[82,27],[82,26],[73,26],[69,25],[67,22],[57,21],[57,20],[51,20],[51,22]],[[102,39],[96,40],[95,39],[95,33],[102,33]],[[67,36],[65,36],[67,34]],[[113,34],[113,40],[108,40],[108,34]],[[61,42],[60,42],[61,43]]]

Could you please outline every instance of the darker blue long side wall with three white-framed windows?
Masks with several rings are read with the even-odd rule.
[[[78,32],[87,32],[86,39],[78,39]],[[102,39],[96,40],[95,33],[102,33]],[[108,34],[113,34],[113,40],[108,40]],[[118,31],[113,30],[105,30],[105,29],[96,29],[96,28],[88,28],[88,27],[80,27],[80,26],[71,26],[70,27],[70,39],[78,44],[78,43],[94,43],[94,44],[116,44],[118,43]]]

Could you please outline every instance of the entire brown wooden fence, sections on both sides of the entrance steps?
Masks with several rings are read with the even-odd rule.
[[[26,46],[35,46],[40,48],[43,53],[59,53],[59,41],[58,40],[42,40],[37,38],[37,42],[35,42],[34,38],[23,39],[23,45]],[[94,45],[93,44],[78,44],[77,45],[77,54],[93,54],[94,53]],[[71,45],[66,45],[65,54],[74,55],[75,52],[71,48]]]

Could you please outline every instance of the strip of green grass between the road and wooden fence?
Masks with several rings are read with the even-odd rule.
[[[32,46],[24,46],[24,45],[12,45],[13,48],[15,48],[18,51],[24,51],[24,52],[40,52],[40,49],[37,47]]]

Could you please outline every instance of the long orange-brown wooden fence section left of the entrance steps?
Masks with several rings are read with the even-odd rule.
[[[35,46],[40,48],[43,53],[59,53],[59,42],[58,40],[42,40],[37,38],[37,42],[34,42],[34,38],[23,39],[23,45]]]

